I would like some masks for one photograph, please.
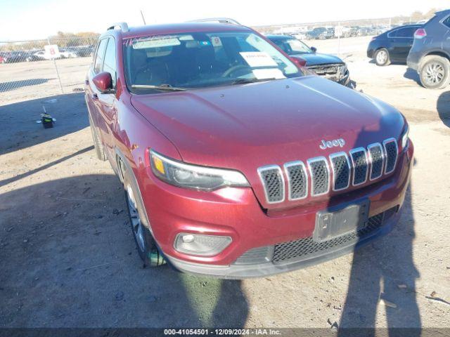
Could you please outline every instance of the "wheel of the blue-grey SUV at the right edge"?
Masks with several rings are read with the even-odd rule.
[[[445,88],[450,81],[450,62],[439,55],[429,55],[420,62],[420,84],[428,89]]]

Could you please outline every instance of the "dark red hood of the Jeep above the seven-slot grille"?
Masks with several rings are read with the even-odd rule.
[[[254,187],[261,185],[259,166],[306,163],[398,139],[404,126],[389,105],[316,76],[132,95],[131,103],[172,140],[184,161],[237,169]],[[344,147],[319,147],[322,140],[338,138]],[[256,194],[265,204],[262,187]]]

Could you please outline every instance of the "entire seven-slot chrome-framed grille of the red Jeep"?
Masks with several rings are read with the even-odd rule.
[[[262,166],[257,171],[264,187],[268,204],[285,201],[285,179],[289,201],[346,190],[352,186],[376,180],[392,173],[397,166],[399,149],[395,138],[382,143],[357,147],[349,152],[336,152],[326,157],[314,157],[303,161],[290,161],[278,165]],[[330,170],[331,168],[331,170]],[[333,172],[333,181],[331,178]],[[309,187],[311,185],[311,187]]]

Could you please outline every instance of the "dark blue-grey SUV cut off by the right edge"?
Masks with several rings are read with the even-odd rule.
[[[440,11],[414,34],[408,66],[425,88],[439,89],[450,79],[450,9]]]

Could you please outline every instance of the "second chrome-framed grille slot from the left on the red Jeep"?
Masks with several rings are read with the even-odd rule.
[[[307,169],[303,161],[291,161],[284,164],[284,170],[288,177],[288,199],[300,200],[308,195]]]

